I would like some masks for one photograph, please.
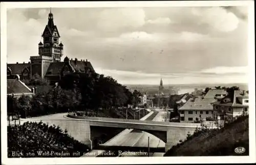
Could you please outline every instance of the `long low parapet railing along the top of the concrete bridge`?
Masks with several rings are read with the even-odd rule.
[[[188,126],[188,127],[200,127],[200,123],[175,123],[175,122],[157,122],[157,121],[146,121],[146,120],[133,120],[133,119],[118,119],[118,118],[101,118],[101,117],[87,117],[87,116],[76,116],[75,113],[69,113],[69,118],[82,119],[82,120],[95,120],[95,121],[111,121],[111,122],[129,122],[129,123],[141,123],[141,124],[160,124],[160,125],[171,125],[171,126]]]

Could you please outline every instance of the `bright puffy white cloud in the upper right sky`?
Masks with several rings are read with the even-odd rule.
[[[221,7],[193,8],[192,13],[199,18],[199,23],[206,23],[220,32],[231,32],[238,28],[238,17]]]

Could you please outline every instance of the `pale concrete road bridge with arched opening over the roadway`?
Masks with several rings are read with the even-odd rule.
[[[125,128],[138,129],[151,133],[165,142],[165,151],[180,140],[186,139],[187,133],[194,133],[198,123],[174,123],[155,122],[131,119],[83,117],[68,114],[62,119],[35,119],[30,121],[42,121],[49,125],[58,125],[62,130],[67,129],[74,139],[87,144],[91,148],[95,146],[95,140],[101,135],[115,136]]]

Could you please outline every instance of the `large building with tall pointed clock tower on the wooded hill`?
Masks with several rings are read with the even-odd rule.
[[[50,11],[48,24],[42,33],[43,43],[38,44],[38,56],[31,56],[30,62],[7,64],[7,76],[19,75],[20,79],[30,79],[32,77],[45,78],[54,84],[65,73],[87,73],[94,71],[89,61],[78,61],[76,58],[66,57],[61,62],[63,56],[63,44],[59,41],[60,35],[57,26],[53,22],[53,14]]]

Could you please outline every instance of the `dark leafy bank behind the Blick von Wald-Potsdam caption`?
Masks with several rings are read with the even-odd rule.
[[[59,127],[43,123],[8,126],[8,157],[79,157],[90,148],[62,132]],[[80,152],[80,155],[73,154]]]

